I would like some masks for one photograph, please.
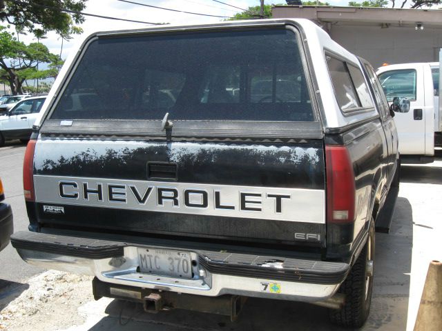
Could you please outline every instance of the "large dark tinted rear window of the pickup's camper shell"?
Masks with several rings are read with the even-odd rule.
[[[198,32],[93,41],[52,119],[313,121],[296,34]]]

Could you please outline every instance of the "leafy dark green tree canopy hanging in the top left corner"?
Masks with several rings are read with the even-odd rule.
[[[65,39],[81,32],[74,26],[84,21],[80,12],[87,0],[0,0],[0,22],[8,22],[19,32],[42,38],[55,31]],[[64,12],[66,10],[68,12]]]

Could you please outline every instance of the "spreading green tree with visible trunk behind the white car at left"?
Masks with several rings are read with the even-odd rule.
[[[39,63],[48,69],[38,70]],[[8,81],[12,94],[21,94],[26,79],[55,77],[60,59],[42,43],[25,45],[0,26],[0,80]]]

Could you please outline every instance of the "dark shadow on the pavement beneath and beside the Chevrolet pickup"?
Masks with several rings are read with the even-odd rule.
[[[405,330],[407,323],[413,223],[407,199],[398,197],[393,217],[390,234],[376,233],[372,310],[361,330]],[[234,323],[229,317],[187,310],[148,314],[140,304],[119,300],[111,301],[106,314],[89,330],[348,330],[331,325],[326,308],[254,298]]]

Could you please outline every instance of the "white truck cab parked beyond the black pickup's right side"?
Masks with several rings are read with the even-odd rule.
[[[405,162],[432,162],[434,147],[442,146],[439,71],[439,63],[431,62],[393,64],[376,72],[390,104],[410,101],[397,107],[394,117]]]

